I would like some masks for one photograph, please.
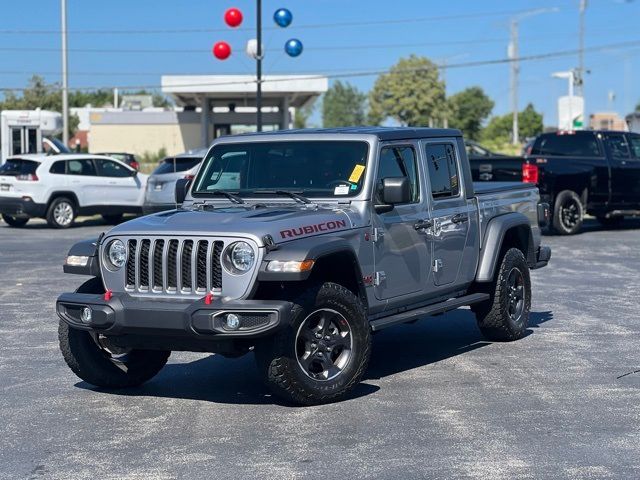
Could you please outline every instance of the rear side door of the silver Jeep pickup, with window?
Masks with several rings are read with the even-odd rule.
[[[432,197],[431,268],[435,285],[444,286],[454,284],[461,275],[474,206],[465,198],[460,183],[460,157],[455,142],[424,142],[423,146]]]

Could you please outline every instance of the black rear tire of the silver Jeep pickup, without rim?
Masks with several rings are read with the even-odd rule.
[[[509,315],[509,275],[517,269],[522,274],[523,310],[517,320]],[[485,338],[492,341],[506,342],[518,340],[525,335],[531,310],[531,277],[529,266],[523,253],[517,248],[510,248],[502,256],[496,279],[488,285],[491,298],[471,307],[476,315],[478,328]]]

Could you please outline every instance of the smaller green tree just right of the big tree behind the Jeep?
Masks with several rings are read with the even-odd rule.
[[[482,122],[493,110],[491,100],[480,87],[470,87],[449,97],[449,126],[462,130],[467,138],[478,140]]]

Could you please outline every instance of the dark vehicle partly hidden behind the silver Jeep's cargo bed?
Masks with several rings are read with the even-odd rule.
[[[524,157],[503,155],[467,140],[465,142],[474,182],[521,182]]]

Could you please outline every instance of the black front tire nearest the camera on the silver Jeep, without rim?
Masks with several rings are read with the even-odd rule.
[[[301,325],[319,309],[332,309],[348,322],[352,336],[351,356],[334,379],[310,378],[298,362],[296,338]],[[336,283],[324,283],[293,299],[290,324],[256,346],[256,363],[265,383],[279,398],[299,405],[329,403],[344,397],[356,386],[369,363],[371,328],[362,301]]]

